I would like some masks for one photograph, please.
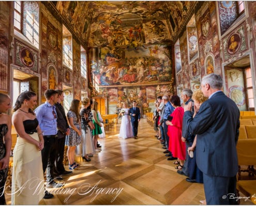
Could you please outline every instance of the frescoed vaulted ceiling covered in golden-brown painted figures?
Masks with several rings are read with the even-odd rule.
[[[136,47],[174,42],[199,4],[192,1],[44,2],[84,46]],[[58,16],[59,16],[58,14]]]

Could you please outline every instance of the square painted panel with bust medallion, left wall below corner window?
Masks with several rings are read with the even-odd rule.
[[[16,65],[38,72],[38,52],[16,39],[14,39],[14,51]]]

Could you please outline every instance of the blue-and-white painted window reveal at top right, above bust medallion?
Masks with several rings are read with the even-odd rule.
[[[220,33],[223,35],[225,31],[237,18],[237,6],[235,1],[218,2]]]

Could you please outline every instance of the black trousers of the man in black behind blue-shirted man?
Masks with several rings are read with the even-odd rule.
[[[65,140],[66,140],[65,137],[57,139],[55,170],[54,170],[54,172],[57,174],[61,174],[65,171],[65,167],[63,165]]]

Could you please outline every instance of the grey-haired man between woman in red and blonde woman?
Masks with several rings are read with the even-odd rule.
[[[194,114],[194,101],[191,99],[192,94],[192,90],[183,89],[181,97],[184,102],[184,106],[188,105],[190,101],[192,102],[192,113]],[[188,132],[187,124],[184,122],[184,120],[182,124],[182,141],[186,143],[186,151],[188,150],[188,147],[191,147],[194,141],[194,135],[191,135]],[[184,162],[182,170],[177,170],[178,174],[188,176],[188,158],[189,154],[188,152],[186,152],[186,160]]]

